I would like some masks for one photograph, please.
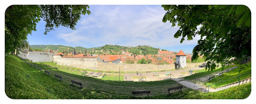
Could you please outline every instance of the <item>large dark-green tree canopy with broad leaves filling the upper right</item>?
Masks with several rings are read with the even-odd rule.
[[[180,43],[200,35],[193,49],[192,61],[204,55],[208,71],[216,63],[225,65],[238,63],[251,56],[251,11],[244,5],[162,5],[166,14],[163,22],[170,21],[172,27],[180,28],[174,34],[182,37]],[[198,27],[200,27],[198,29]],[[236,58],[236,60],[232,60]]]

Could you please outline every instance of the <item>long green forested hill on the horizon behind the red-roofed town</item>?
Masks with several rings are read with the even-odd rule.
[[[53,51],[59,52],[73,52],[74,47],[64,46],[64,45],[30,45],[30,48],[33,50],[48,50],[52,49]],[[93,50],[94,49],[94,50]],[[125,47],[120,45],[104,45],[102,47],[92,47],[92,48],[84,48],[84,47],[75,47],[75,50],[79,53],[90,53],[90,54],[102,54],[106,52],[110,52],[112,55],[116,55],[118,52],[122,53],[122,51],[128,51],[129,53],[133,53],[136,55],[157,55],[158,48],[150,47],[148,45],[138,45],[137,47]],[[140,53],[141,51],[141,53]],[[166,51],[162,49],[162,51]]]

